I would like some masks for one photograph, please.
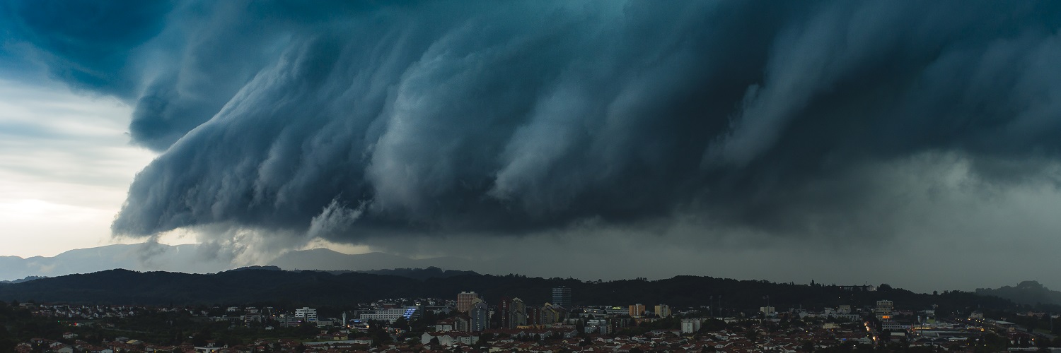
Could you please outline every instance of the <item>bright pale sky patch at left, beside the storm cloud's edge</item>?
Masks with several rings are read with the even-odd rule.
[[[131,111],[58,83],[0,81],[0,255],[116,244],[110,222],[156,156],[129,143]]]

